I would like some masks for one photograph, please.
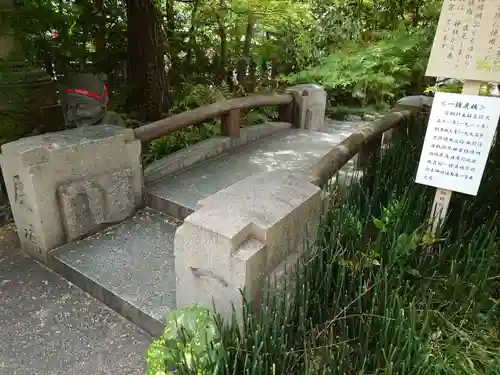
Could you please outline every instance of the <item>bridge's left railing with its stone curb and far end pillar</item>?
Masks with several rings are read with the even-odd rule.
[[[244,109],[278,106],[278,121],[266,122],[240,129],[240,112]],[[135,130],[135,138],[146,144],[186,126],[222,116],[221,136],[198,142],[190,147],[164,156],[144,168],[144,181],[148,184],[186,169],[195,163],[214,158],[229,149],[241,147],[268,137],[284,129],[320,130],[326,108],[325,90],[314,84],[285,89],[284,94],[254,95],[224,100],[183,112]],[[144,148],[144,147],[143,147]]]

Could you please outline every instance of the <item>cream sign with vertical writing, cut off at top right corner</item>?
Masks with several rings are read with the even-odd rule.
[[[444,0],[426,75],[500,82],[500,0]]]

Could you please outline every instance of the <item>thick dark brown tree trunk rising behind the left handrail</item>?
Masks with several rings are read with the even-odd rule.
[[[162,117],[165,60],[152,0],[127,0],[127,106],[143,121]]]

